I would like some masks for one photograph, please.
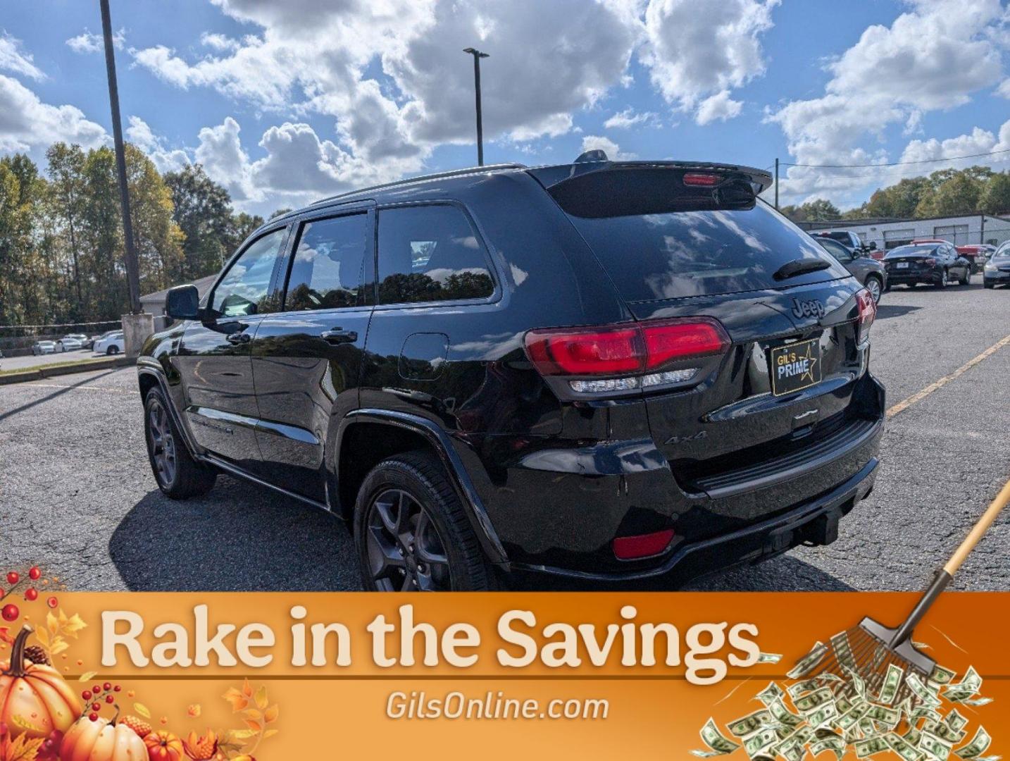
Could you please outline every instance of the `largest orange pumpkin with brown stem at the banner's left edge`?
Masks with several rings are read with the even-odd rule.
[[[60,672],[24,657],[31,631],[27,625],[21,629],[10,662],[0,663],[0,724],[7,725],[10,739],[21,734],[34,739],[47,738],[54,731],[67,732],[81,714],[77,695]]]

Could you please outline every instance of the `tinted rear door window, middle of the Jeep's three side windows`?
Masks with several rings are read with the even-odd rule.
[[[286,311],[359,304],[368,221],[368,214],[350,214],[302,225],[288,275]]]

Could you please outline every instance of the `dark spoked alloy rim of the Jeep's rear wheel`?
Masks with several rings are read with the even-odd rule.
[[[387,489],[369,505],[366,517],[369,574],[389,592],[452,588],[445,545],[427,509],[403,489]]]

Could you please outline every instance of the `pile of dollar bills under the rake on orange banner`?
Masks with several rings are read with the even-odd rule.
[[[833,649],[843,674],[808,675]],[[831,751],[840,759],[852,751],[858,758],[893,751],[904,761],[1000,761],[983,756],[992,742],[983,727],[972,739],[968,719],[957,705],[985,705],[992,699],[979,695],[982,677],[969,667],[956,680],[950,669],[936,666],[926,679],[890,664],[878,691],[870,689],[851,660],[847,635],[818,642],[787,676],[785,689],[771,682],[754,699],[764,707],[726,725],[728,737],[713,719],[701,729],[707,750],[691,753],[712,758],[732,753],[741,746],[754,761],[801,761],[809,752],[817,756]],[[775,663],[779,657],[763,654],[761,662]],[[956,681],[955,681],[956,680]],[[902,683],[907,686],[904,692]],[[899,704],[899,694],[908,694]],[[964,744],[962,744],[964,743]],[[955,747],[960,746],[960,747]]]

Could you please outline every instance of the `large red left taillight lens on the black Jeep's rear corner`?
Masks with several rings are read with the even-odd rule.
[[[714,319],[530,330],[526,353],[541,375],[633,375],[677,360],[721,354],[729,337]]]

